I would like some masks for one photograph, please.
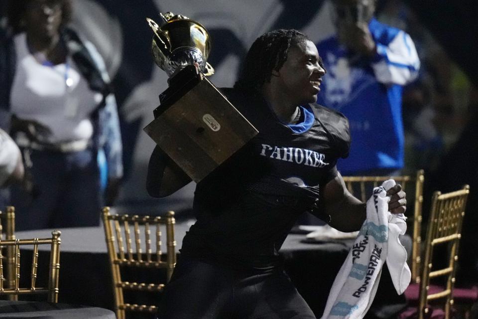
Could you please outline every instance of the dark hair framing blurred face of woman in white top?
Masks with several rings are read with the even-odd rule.
[[[22,23],[23,15],[29,2],[34,0],[9,0],[6,6],[8,24],[13,29],[13,33],[19,33],[25,30],[25,25]],[[71,20],[72,15],[72,1],[71,0],[57,0],[61,4],[61,27],[66,25]]]

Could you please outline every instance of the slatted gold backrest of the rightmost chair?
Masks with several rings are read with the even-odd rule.
[[[436,191],[433,194],[425,242],[425,267],[423,267],[422,282],[420,283],[419,319],[428,317],[430,301],[434,304],[441,302],[444,306],[445,318],[450,318],[458,246],[469,193],[470,186],[465,185],[463,189],[454,192],[442,194]],[[445,250],[449,257],[445,266],[433,263],[433,255],[437,249],[441,249],[439,250],[440,254],[443,254]],[[445,262],[441,258],[440,261]],[[431,281],[438,279],[446,280],[444,290],[438,293],[429,293]]]

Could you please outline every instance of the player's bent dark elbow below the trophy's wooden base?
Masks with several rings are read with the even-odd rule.
[[[146,190],[152,197],[165,197],[186,186],[191,178],[159,147],[155,147],[148,164]]]

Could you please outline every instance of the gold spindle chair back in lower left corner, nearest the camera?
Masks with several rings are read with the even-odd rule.
[[[50,303],[58,302],[58,278],[60,271],[60,235],[59,231],[52,231],[51,238],[44,239],[12,239],[12,240],[0,240],[0,246],[6,247],[7,255],[9,255],[12,248],[13,255],[8,256],[8,258],[13,258],[13,263],[8,265],[13,272],[12,283],[8,283],[7,287],[4,287],[4,276],[3,276],[3,265],[2,265],[2,256],[0,256],[0,295],[33,295],[33,294],[46,294],[47,301]],[[31,263],[31,273],[30,273],[30,285],[29,287],[22,288],[20,287],[20,265],[24,264],[23,259],[20,258],[20,247],[21,246],[33,246],[32,260]],[[48,287],[41,288],[36,287],[37,282],[37,269],[38,269],[38,246],[39,245],[50,245],[50,263],[49,263],[49,274],[48,274]],[[1,251],[0,251],[1,253]]]

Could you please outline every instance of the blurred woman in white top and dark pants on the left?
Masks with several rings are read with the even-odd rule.
[[[96,48],[67,23],[69,0],[11,0],[0,47],[2,127],[20,147],[28,187],[12,187],[16,229],[95,226],[122,176],[116,99]],[[99,150],[109,183],[100,188]]]

